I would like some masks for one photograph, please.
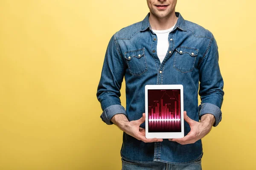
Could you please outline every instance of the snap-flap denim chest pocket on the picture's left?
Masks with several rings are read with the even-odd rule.
[[[148,70],[144,49],[125,52],[125,59],[131,74],[140,76]]]

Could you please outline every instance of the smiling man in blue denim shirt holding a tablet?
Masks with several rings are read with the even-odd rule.
[[[221,121],[224,83],[218,46],[210,31],[175,12],[177,0],[147,3],[150,12],[145,19],[122,28],[109,42],[96,94],[101,118],[124,131],[124,170],[198,170],[203,156],[201,139]],[[126,110],[119,99],[123,77]],[[183,85],[182,139],[145,138],[145,85],[155,84]]]

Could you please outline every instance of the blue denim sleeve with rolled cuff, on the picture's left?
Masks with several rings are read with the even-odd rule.
[[[119,45],[115,35],[111,37],[105,54],[102,73],[97,88],[97,99],[101,104],[102,121],[112,125],[111,118],[116,114],[126,114],[125,108],[121,105],[120,89],[125,74],[126,65],[120,54]]]

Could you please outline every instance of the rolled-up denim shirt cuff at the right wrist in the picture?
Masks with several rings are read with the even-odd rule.
[[[219,124],[219,122],[221,122],[222,113],[221,113],[221,109],[218,106],[213,105],[211,103],[202,103],[201,105],[198,106],[198,108],[199,108],[200,120],[201,120],[201,116],[209,113],[215,117],[215,122],[213,124],[214,127],[216,127]]]

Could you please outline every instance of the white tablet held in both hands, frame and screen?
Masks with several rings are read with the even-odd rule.
[[[145,85],[145,114],[146,138],[183,138],[183,85]]]

